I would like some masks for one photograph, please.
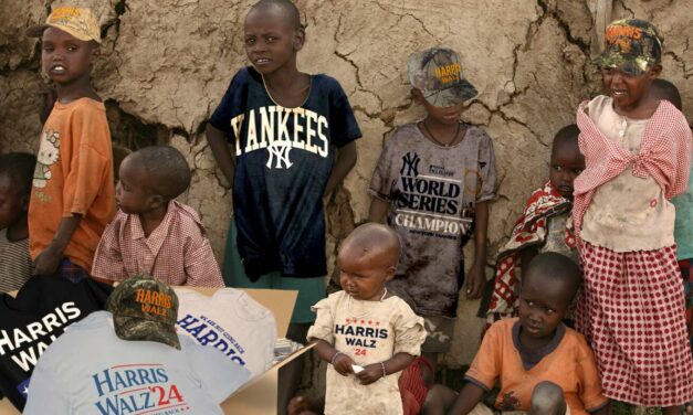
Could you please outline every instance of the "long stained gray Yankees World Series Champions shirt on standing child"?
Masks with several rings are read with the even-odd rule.
[[[479,127],[465,127],[452,147],[431,142],[416,124],[399,127],[370,181],[371,194],[389,202],[388,223],[402,242],[388,288],[420,316],[455,316],[462,246],[473,231],[475,205],[496,195],[491,138]]]

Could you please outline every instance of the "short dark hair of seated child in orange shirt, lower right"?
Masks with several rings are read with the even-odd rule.
[[[540,286],[547,295],[557,295],[565,307],[568,307],[581,281],[582,273],[573,259],[555,252],[545,252],[529,262],[522,286]]]

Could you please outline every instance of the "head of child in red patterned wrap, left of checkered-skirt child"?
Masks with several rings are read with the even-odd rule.
[[[552,187],[561,196],[573,200],[573,182],[585,170],[585,157],[578,146],[580,130],[571,124],[563,127],[554,137],[548,177]]]

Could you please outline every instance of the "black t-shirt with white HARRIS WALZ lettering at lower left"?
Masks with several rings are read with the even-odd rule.
[[[111,290],[92,279],[72,283],[48,276],[30,278],[17,298],[0,294],[0,391],[14,406],[24,407],[41,353],[67,326],[103,310]]]

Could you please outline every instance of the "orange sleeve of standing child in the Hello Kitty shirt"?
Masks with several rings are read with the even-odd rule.
[[[111,134],[106,114],[82,105],[72,114],[72,155],[63,185],[63,216],[85,214],[112,169]]]

